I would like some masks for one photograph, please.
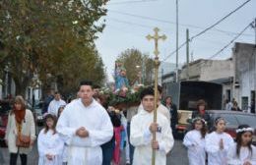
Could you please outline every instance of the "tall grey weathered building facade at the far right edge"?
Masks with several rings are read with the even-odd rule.
[[[232,49],[234,59],[234,98],[242,109],[255,104],[256,45],[236,42]]]

